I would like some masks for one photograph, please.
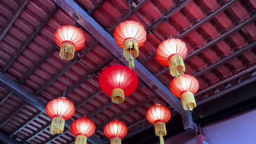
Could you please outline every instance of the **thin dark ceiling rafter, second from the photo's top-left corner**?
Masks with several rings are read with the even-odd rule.
[[[51,10],[50,14],[46,17],[46,19],[43,22],[41,22],[36,29],[34,29],[34,33],[29,35],[29,37],[27,38],[26,41],[24,41],[24,43],[22,44],[20,49],[17,51],[17,53],[13,57],[11,57],[9,62],[7,62],[7,64],[2,69],[2,73],[5,73],[9,69],[9,67],[14,63],[14,61],[16,61],[16,59],[27,48],[27,46],[34,40],[34,38],[36,38],[36,35],[44,28],[44,26],[48,23],[51,17],[53,17],[53,15],[57,12],[57,10],[59,10],[59,8],[60,7],[58,7],[57,5],[54,6],[54,9]]]

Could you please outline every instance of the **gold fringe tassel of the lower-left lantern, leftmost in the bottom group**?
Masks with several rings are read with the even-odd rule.
[[[63,119],[61,117],[54,117],[51,120],[51,127],[50,127],[51,133],[52,134],[61,134],[61,133],[63,133],[64,125],[65,125],[65,119]]]

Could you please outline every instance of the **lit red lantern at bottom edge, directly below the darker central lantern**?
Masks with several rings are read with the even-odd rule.
[[[127,127],[118,119],[114,119],[104,127],[104,134],[110,139],[110,144],[121,144],[121,139],[127,134]]]

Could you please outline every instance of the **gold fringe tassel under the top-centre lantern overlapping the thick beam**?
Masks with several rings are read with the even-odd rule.
[[[134,69],[135,64],[134,64],[134,59],[138,57],[139,51],[138,51],[138,43],[135,39],[126,39],[124,41],[124,50],[123,50],[123,55],[126,58],[126,61],[129,62],[129,68]]]

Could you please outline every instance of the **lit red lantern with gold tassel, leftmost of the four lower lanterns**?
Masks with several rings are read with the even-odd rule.
[[[73,103],[65,97],[59,97],[49,101],[45,107],[45,112],[52,119],[51,133],[63,133],[65,121],[74,115],[74,111],[75,107]]]

